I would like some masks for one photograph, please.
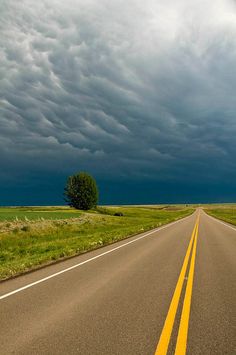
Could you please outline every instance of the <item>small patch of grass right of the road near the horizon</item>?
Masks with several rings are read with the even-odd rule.
[[[205,208],[205,211],[210,216],[236,225],[236,205],[234,204],[209,206]]]

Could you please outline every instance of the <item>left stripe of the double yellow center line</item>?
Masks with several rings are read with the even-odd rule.
[[[197,221],[194,225],[194,228],[193,228],[191,239],[190,239],[190,242],[189,242],[189,245],[187,248],[187,252],[186,252],[186,255],[184,258],[184,262],[182,265],[182,269],[180,271],[180,275],[179,275],[179,278],[178,278],[178,281],[176,284],[174,295],[173,295],[171,303],[170,303],[170,307],[169,307],[169,310],[167,313],[164,327],[162,329],[162,333],[161,333],[159,342],[157,344],[155,355],[165,355],[165,354],[167,354],[167,351],[168,351],[168,346],[169,346],[170,337],[171,337],[171,333],[172,333],[172,329],[173,329],[173,325],[174,325],[174,320],[175,320],[175,316],[176,316],[176,312],[177,312],[177,308],[178,308],[178,304],[179,304],[179,300],[180,300],[181,291],[183,288],[184,278],[185,278],[188,262],[189,262],[190,255],[191,255],[193,241],[194,241],[196,231],[197,231],[197,225],[198,225],[198,219],[197,219]]]

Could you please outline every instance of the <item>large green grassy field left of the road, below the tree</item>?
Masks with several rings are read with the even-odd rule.
[[[114,216],[117,212],[123,216]],[[89,213],[59,207],[0,209],[0,279],[96,249],[192,212],[183,206],[99,207]],[[41,215],[44,220],[39,219]]]

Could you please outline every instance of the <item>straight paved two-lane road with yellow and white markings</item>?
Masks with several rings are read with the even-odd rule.
[[[0,283],[0,354],[236,354],[236,228],[202,210]]]

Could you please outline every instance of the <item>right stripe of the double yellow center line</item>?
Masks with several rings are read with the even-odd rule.
[[[190,316],[191,298],[192,298],[192,291],[193,291],[193,277],[194,277],[195,259],[196,259],[196,251],[197,251],[198,227],[199,227],[199,221],[197,223],[197,229],[196,229],[195,239],[193,244],[193,252],[192,252],[190,268],[188,273],[188,281],[187,281],[182,314],[180,319],[180,326],[179,326],[179,332],[178,332],[177,343],[175,348],[175,355],[186,354],[189,316]]]

